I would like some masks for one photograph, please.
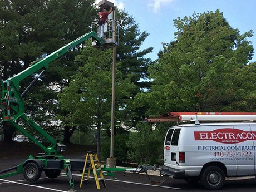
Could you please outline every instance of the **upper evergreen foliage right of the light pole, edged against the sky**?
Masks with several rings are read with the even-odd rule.
[[[122,65],[119,70],[124,78],[129,77],[135,83],[137,89],[149,88],[149,84],[140,81],[145,80],[149,75],[147,68],[151,64],[150,58],[145,58],[148,53],[152,52],[152,47],[140,50],[140,46],[145,41],[149,33],[140,32],[139,24],[136,23],[132,16],[128,13],[120,11],[117,15],[120,25],[120,45],[117,47],[117,61],[121,61]],[[140,82],[139,82],[140,81]]]

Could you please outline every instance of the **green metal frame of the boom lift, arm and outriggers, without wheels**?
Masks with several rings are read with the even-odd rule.
[[[63,156],[60,155],[61,151],[58,150],[61,145],[58,144],[55,139],[53,139],[50,135],[47,134],[40,126],[38,126],[32,119],[30,119],[25,114],[25,108],[24,108],[24,102],[23,102],[23,94],[19,93],[19,82],[21,82],[24,78],[32,75],[33,73],[36,73],[40,70],[45,70],[48,68],[49,63],[56,60],[57,58],[61,57],[66,52],[72,50],[75,48],[75,46],[79,45],[80,43],[83,43],[88,38],[92,38],[92,41],[96,42],[96,47],[102,49],[105,46],[111,47],[112,45],[104,45],[104,41],[102,38],[98,37],[97,34],[94,31],[91,31],[89,33],[86,33],[85,35],[77,38],[76,40],[72,41],[71,43],[68,43],[67,45],[63,46],[62,48],[58,49],[57,51],[51,53],[50,55],[46,56],[42,60],[36,62],[31,67],[28,67],[26,70],[18,73],[17,75],[8,78],[7,80],[2,82],[2,99],[1,103],[3,106],[3,120],[8,121],[9,124],[13,125],[22,132],[23,135],[27,136],[30,140],[35,142],[35,144],[40,147],[44,152],[45,155],[43,156],[29,156],[29,159],[24,161],[23,163],[17,165],[14,169],[15,171],[12,171],[11,173],[7,174],[1,174],[0,179],[7,178],[9,176],[17,175],[23,173],[24,165],[26,165],[27,162],[35,160],[40,160],[42,162],[42,169],[47,169],[47,156],[54,156],[54,159],[63,159]],[[95,44],[95,43],[94,43]],[[116,46],[116,45],[114,45]],[[30,86],[32,86],[33,83]],[[26,95],[26,93],[25,93]],[[49,143],[50,146],[46,147],[41,144],[35,137],[33,137],[29,132],[27,132],[23,127],[17,124],[17,120],[22,120],[25,124],[32,127],[34,131],[36,131],[38,134],[43,136]],[[63,159],[63,169],[66,171],[66,175],[68,177],[68,181],[70,183],[70,188],[74,188],[74,180],[72,178],[71,173],[71,164],[70,160]],[[13,168],[8,170],[14,170]],[[3,170],[2,173],[8,172],[8,170]],[[115,176],[112,171],[124,171],[124,168],[102,168],[102,171],[106,171],[107,175]]]

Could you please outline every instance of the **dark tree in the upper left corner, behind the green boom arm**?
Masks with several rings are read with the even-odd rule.
[[[37,42],[29,40],[33,31],[26,22],[26,16],[32,9],[45,9],[42,1],[1,1],[0,2],[0,64],[1,78],[17,74],[40,55],[41,48]],[[32,33],[32,34],[31,34]],[[4,140],[10,142],[14,128],[4,122]]]

